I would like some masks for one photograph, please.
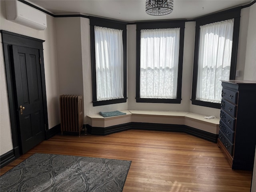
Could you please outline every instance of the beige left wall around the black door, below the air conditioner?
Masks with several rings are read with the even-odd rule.
[[[43,31],[35,30],[12,21],[6,20],[5,1],[0,1],[0,29],[9,32],[14,32],[33,38],[45,40],[43,43],[44,48],[44,68],[46,79],[46,97],[48,108],[48,122],[49,128],[52,128],[60,123],[59,109],[58,109],[58,96],[59,96],[59,79],[58,79],[58,66],[56,57],[56,36],[55,24],[52,16],[47,17],[47,28]],[[2,44],[2,38],[1,38]],[[12,135],[10,128],[10,115],[8,94],[6,86],[5,65],[2,45],[0,46],[0,154],[13,149]]]

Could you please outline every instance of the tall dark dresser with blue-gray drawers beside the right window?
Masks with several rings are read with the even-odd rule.
[[[256,81],[222,81],[218,146],[232,169],[252,170],[256,145]]]

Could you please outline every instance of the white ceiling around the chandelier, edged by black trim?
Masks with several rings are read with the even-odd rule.
[[[252,0],[174,0],[174,10],[165,16],[145,12],[145,0],[30,0],[53,14],[80,13],[126,22],[194,19],[199,16],[246,5]]]

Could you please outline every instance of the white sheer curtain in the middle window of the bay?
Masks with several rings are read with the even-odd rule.
[[[140,98],[177,98],[180,28],[140,31]]]

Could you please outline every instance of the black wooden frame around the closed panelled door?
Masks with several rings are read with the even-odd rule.
[[[46,84],[45,84],[45,76],[44,76],[44,55],[43,55],[43,42],[45,41],[37,38],[32,38],[29,36],[16,34],[13,32],[8,32],[5,30],[0,30],[0,32],[2,34],[3,54],[4,54],[4,62],[5,62],[5,70],[6,70],[6,82],[7,82],[7,92],[8,92],[8,101],[9,101],[9,110],[10,110],[10,123],[11,123],[11,130],[12,130],[12,144],[13,144],[13,150],[4,154],[5,155],[5,160],[3,160],[4,162],[2,162],[2,158],[1,158],[1,167],[2,167],[22,155],[21,141],[20,141],[20,135],[19,135],[20,130],[19,130],[19,123],[18,123],[19,116],[18,116],[18,110],[17,110],[17,93],[16,93],[16,87],[15,87],[16,83],[15,83],[15,74],[14,74],[11,45],[35,48],[39,50],[45,136],[46,136],[46,131],[49,129],[49,126],[48,126],[48,113],[47,113],[47,103],[46,103]]]

